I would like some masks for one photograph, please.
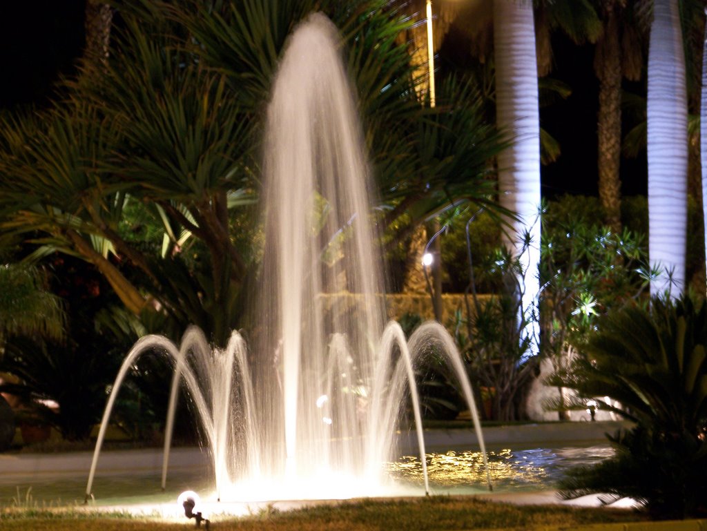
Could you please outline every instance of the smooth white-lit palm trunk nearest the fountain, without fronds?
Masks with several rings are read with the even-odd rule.
[[[496,121],[513,136],[513,146],[498,157],[501,206],[518,214],[504,243],[520,255],[522,308],[526,316],[537,311],[540,260],[540,121],[537,59],[532,1],[493,0],[493,49],[496,62]],[[535,341],[537,320],[526,334]]]

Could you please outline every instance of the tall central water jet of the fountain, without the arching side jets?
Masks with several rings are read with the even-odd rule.
[[[265,296],[259,313],[268,324],[259,349],[281,358],[275,375],[281,378],[286,461],[297,474],[320,467],[322,456],[327,468],[347,462],[349,470],[361,469],[363,445],[332,452],[328,441],[360,435],[356,402],[366,397],[359,387],[369,380],[385,323],[378,296],[382,260],[368,218],[368,166],[338,42],[336,28],[319,13],[300,25],[268,108]],[[322,296],[340,292],[356,293],[359,302],[346,308],[343,298]],[[327,424],[315,404],[324,395],[332,334],[344,334],[349,346],[351,362],[337,378],[350,396],[345,404],[329,402],[337,419]]]

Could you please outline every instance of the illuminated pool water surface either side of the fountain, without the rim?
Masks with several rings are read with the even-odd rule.
[[[585,448],[498,449],[489,452],[493,488],[503,491],[543,491],[553,489],[563,473],[575,465],[590,465],[613,455],[607,445]],[[486,492],[484,460],[481,453],[449,450],[427,453],[432,494],[481,494]],[[419,457],[402,456],[387,465],[395,487],[386,496],[422,496],[423,478]],[[0,506],[66,506],[83,501],[85,474],[72,477],[0,476]],[[99,474],[95,481],[97,506],[173,503],[181,491],[194,490],[205,499],[214,492],[214,476],[208,467],[175,471],[168,490],[160,489],[160,473]],[[372,493],[372,495],[375,493]],[[346,496],[332,496],[346,498]],[[270,499],[277,499],[276,496]]]

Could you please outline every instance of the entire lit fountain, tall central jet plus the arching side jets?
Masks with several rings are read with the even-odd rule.
[[[389,493],[383,465],[397,457],[395,430],[408,395],[428,492],[414,366],[435,349],[460,380],[491,488],[474,397],[448,332],[427,323],[406,341],[397,323],[384,329],[368,167],[338,42],[334,25],[313,14],[291,36],[274,83],[264,143],[267,245],[252,350],[238,332],[223,350],[211,349],[197,328],[187,330],[179,347],[164,337],[140,339],[112,387],[87,498],[122,380],[154,349],[175,365],[163,486],[183,380],[209,448],[218,499]],[[341,292],[354,293],[356,303]]]

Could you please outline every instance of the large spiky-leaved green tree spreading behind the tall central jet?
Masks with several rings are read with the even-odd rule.
[[[465,86],[447,98],[456,107],[420,105],[397,39],[409,21],[389,1],[216,4],[116,4],[107,61],[83,62],[54,107],[4,120],[0,238],[79,255],[132,312],[159,308],[218,342],[257,271],[262,111],[284,43],[311,11],[341,28],[390,220],[426,216],[448,194],[483,201],[490,185],[478,147],[489,127],[477,127],[473,100],[460,102]]]

